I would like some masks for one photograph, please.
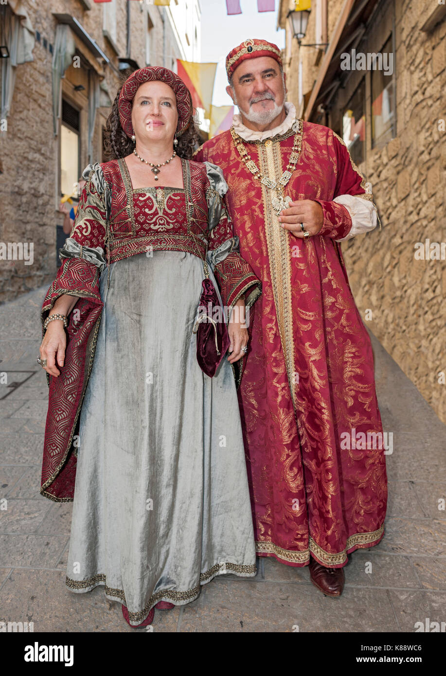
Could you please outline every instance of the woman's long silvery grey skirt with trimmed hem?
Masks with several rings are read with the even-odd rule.
[[[193,601],[216,575],[256,572],[232,368],[224,357],[212,379],[197,363],[203,276],[184,251],[112,263],[109,289],[101,273],[66,585],[105,585],[132,625],[160,600]]]

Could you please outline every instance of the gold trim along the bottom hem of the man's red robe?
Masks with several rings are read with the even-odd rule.
[[[316,544],[312,537],[309,538],[309,548],[302,552],[285,550],[282,547],[275,545],[273,542],[256,542],[255,551],[259,552],[259,554],[276,554],[279,558],[282,558],[284,561],[289,561],[290,563],[306,563],[309,561],[310,553],[312,553],[322,561],[322,565],[329,568],[330,566],[344,563],[347,560],[347,552],[352,547],[360,549],[367,545],[371,545],[380,538],[382,533],[384,533],[384,524],[382,524],[377,531],[372,531],[371,533],[354,533],[354,535],[347,537],[345,549],[342,552],[336,552],[335,554],[323,550]]]

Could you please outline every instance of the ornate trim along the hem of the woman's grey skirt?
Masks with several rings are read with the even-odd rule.
[[[151,608],[153,608],[153,606],[161,599],[172,602],[176,601],[177,605],[182,604],[182,602],[191,601],[194,598],[197,598],[199,595],[200,585],[209,582],[212,577],[215,577],[216,575],[222,575],[223,573],[228,573],[229,571],[235,573],[235,575],[253,577],[253,575],[256,575],[257,573],[257,568],[254,564],[252,566],[244,566],[231,562],[216,563],[215,566],[209,568],[208,571],[200,574],[199,583],[195,585],[195,587],[187,589],[186,592],[176,592],[174,589],[160,589],[159,592],[156,592],[156,594],[152,594],[143,610],[139,610],[138,612],[130,612],[129,610],[128,618],[132,622],[143,621],[149,614]],[[122,589],[108,587],[107,578],[104,573],[97,573],[97,575],[93,575],[93,577],[89,577],[86,580],[73,580],[70,577],[67,577],[65,583],[68,589],[85,589],[86,591],[90,591],[89,587],[96,587],[97,585],[103,584],[105,585],[105,596],[114,596],[118,598],[122,604],[124,604],[124,606],[127,605],[126,597]]]

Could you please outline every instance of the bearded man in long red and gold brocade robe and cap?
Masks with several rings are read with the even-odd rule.
[[[195,159],[223,169],[262,280],[239,387],[256,548],[339,596],[347,554],[378,544],[387,507],[372,346],[340,245],[376,227],[376,207],[343,140],[285,102],[276,45],[245,41],[226,71],[240,114]]]

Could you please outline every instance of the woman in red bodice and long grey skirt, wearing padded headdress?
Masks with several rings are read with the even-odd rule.
[[[216,575],[255,575],[237,385],[260,283],[239,254],[221,170],[189,159],[192,112],[166,68],[124,82],[108,121],[116,159],[84,170],[41,315],[41,493],[74,502],[66,585],[104,585],[132,627]],[[206,269],[228,311],[229,356],[214,377],[194,333]]]

